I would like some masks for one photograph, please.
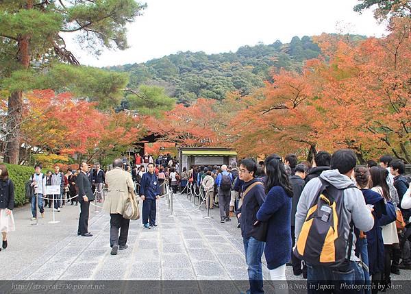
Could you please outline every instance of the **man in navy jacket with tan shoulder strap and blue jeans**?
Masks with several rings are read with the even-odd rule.
[[[264,184],[255,176],[256,171],[257,163],[253,159],[247,158],[240,162],[238,177],[244,181],[244,184],[242,185],[242,206],[236,211],[236,214],[240,219],[245,260],[248,265],[250,290],[247,293],[264,293],[261,262],[264,242],[255,238],[258,227],[254,223],[257,221],[257,212],[266,199],[266,194]]]

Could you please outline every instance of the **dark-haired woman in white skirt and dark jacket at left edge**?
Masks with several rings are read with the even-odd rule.
[[[7,248],[7,234],[15,230],[14,218],[14,184],[10,180],[7,167],[0,164],[0,231],[3,235],[1,247]],[[0,251],[1,251],[0,247]]]

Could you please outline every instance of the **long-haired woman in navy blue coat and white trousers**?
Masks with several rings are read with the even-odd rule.
[[[267,223],[264,250],[275,293],[288,293],[286,263],[291,259],[292,186],[282,162],[273,154],[264,161],[266,200],[257,212],[257,219]]]

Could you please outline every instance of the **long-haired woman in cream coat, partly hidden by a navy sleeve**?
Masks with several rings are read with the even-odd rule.
[[[373,188],[371,190],[379,193],[386,203],[392,201],[393,198],[390,194],[390,188],[386,182],[386,169],[383,169],[382,167],[371,167],[370,173],[371,180],[373,181]],[[382,222],[384,223],[384,220]],[[391,283],[390,273],[393,250],[399,243],[395,220],[382,225],[382,240],[384,242],[384,272],[381,280],[385,286],[388,286]]]

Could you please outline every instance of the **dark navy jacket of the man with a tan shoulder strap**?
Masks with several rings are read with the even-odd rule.
[[[262,182],[259,178],[254,178],[249,182],[245,182],[242,185],[242,192],[246,191],[248,186],[254,182]],[[257,212],[260,206],[264,203],[266,199],[266,193],[264,190],[264,184],[254,186],[245,197],[242,198],[242,206],[236,211],[241,213],[240,226],[241,226],[241,236],[249,238],[256,234],[258,227],[253,226],[257,221]]]

